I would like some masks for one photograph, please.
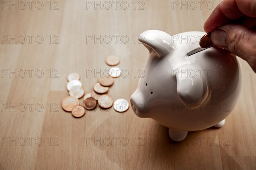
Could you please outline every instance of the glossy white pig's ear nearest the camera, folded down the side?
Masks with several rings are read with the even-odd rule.
[[[199,71],[183,67],[177,69],[177,72],[177,94],[187,108],[198,108],[210,99],[211,90]]]

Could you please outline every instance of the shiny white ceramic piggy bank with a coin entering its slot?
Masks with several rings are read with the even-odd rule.
[[[149,30],[139,36],[148,49],[131,107],[141,118],[151,118],[169,128],[179,142],[189,131],[222,127],[241,91],[239,60],[230,52],[211,47],[191,56],[204,32],[169,35]]]

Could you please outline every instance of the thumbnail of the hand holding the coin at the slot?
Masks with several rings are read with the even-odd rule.
[[[227,34],[221,29],[216,29],[211,33],[211,39],[213,44],[220,47],[227,47]]]

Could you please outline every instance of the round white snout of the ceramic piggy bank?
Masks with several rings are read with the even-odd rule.
[[[145,112],[146,112],[145,98],[140,91],[136,90],[131,95],[130,102],[131,102],[131,108],[137,116],[146,117],[146,115],[145,115]]]

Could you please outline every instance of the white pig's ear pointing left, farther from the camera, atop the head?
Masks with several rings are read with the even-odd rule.
[[[139,36],[139,41],[148,48],[149,53],[156,52],[158,57],[163,57],[174,49],[172,36],[159,30],[143,32]]]

